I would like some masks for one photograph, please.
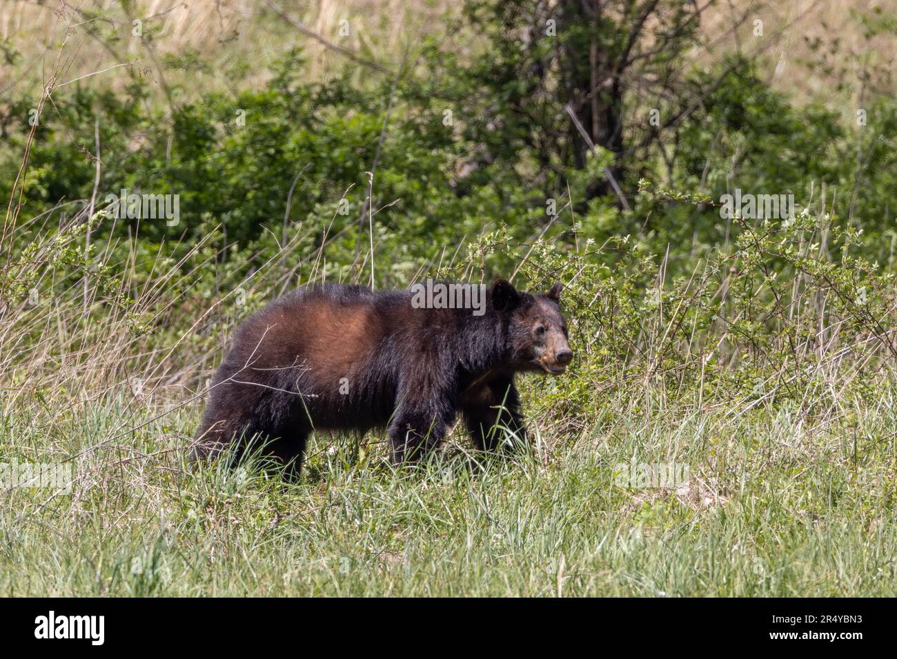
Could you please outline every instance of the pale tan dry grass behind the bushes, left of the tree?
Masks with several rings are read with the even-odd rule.
[[[308,58],[302,72],[309,80],[337,73],[345,56],[322,40],[297,30],[276,9],[339,48],[371,60],[393,64],[407,42],[438,32],[441,17],[452,3],[405,3],[401,0],[152,0],[126,9],[116,0],[2,0],[0,39],[21,54],[11,64],[0,62],[0,91],[39,88],[48,57],[66,35],[77,33],[76,47],[66,59],[67,79],[82,84],[121,85],[134,75],[148,75],[157,83],[183,83],[190,90],[223,91],[251,88],[266,80],[268,65],[290,48],[301,47]],[[143,36],[132,34],[141,20]],[[347,32],[343,31],[347,22]],[[196,52],[207,66],[179,71],[166,64],[170,56]],[[132,66],[92,74],[110,66]],[[161,95],[161,90],[160,90]]]

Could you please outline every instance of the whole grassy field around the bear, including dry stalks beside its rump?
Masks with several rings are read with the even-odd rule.
[[[44,277],[55,267],[35,263]],[[758,396],[677,384],[655,361],[602,365],[613,337],[571,303],[568,373],[521,378],[530,455],[483,459],[456,429],[431,463],[396,470],[383,433],[361,446],[320,436],[286,482],[186,461],[204,377],[283,273],[259,270],[218,298],[245,289],[252,308],[196,321],[189,277],[172,264],[86,293],[75,278],[0,318],[0,594],[897,594],[897,389],[890,368],[859,379],[881,359],[868,339],[832,338],[796,398],[776,396],[780,373]],[[791,307],[816,299],[796,290]],[[120,292],[134,304],[117,308]],[[103,322],[83,316],[85,295]],[[687,324],[670,307],[640,316],[643,351],[674,348],[674,372],[710,373],[712,350],[675,333]],[[140,331],[159,317],[177,330]],[[38,487],[25,464],[67,471]],[[670,465],[675,481],[644,480]]]

